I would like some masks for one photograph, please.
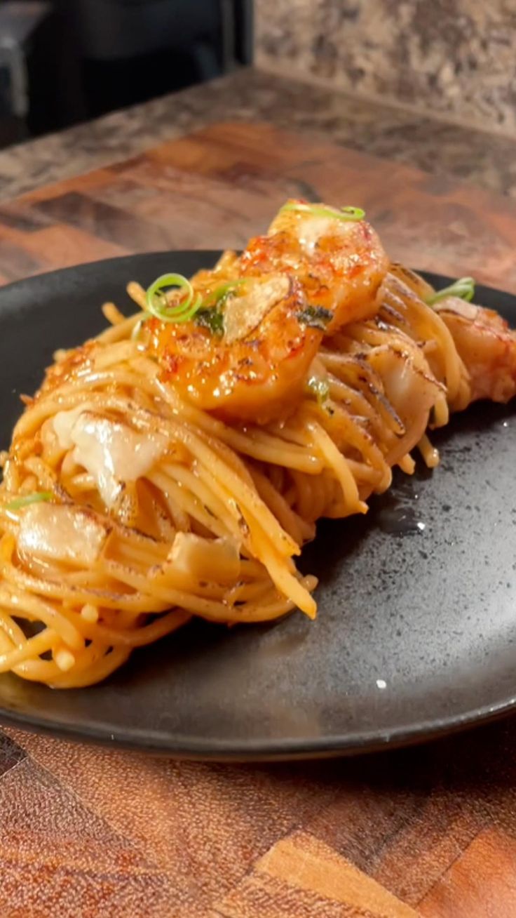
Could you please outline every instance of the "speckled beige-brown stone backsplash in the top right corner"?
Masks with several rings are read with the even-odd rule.
[[[255,0],[259,66],[516,136],[516,0]]]

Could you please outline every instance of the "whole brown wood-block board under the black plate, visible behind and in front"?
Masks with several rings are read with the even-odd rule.
[[[242,124],[0,207],[0,274],[238,246],[289,195],[363,205],[393,257],[516,291],[515,202]],[[0,915],[513,918],[515,753],[514,720],[362,760],[269,766],[5,731]]]

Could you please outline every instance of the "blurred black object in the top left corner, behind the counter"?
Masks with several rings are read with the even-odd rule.
[[[251,60],[252,0],[0,0],[0,148]]]

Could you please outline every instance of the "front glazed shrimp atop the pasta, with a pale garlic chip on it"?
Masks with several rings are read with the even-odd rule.
[[[161,377],[204,410],[229,420],[267,423],[302,394],[322,332],[300,319],[302,285],[270,275],[228,297],[223,335],[195,321],[153,319],[150,348]]]

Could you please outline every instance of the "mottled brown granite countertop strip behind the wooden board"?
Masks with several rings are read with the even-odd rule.
[[[124,160],[221,120],[310,131],[516,196],[516,140],[250,68],[0,151],[0,199]]]

